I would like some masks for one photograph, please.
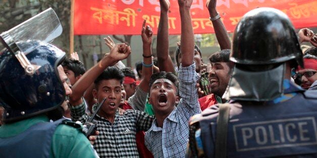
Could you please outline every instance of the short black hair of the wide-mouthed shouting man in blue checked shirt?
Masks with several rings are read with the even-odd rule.
[[[153,85],[153,83],[161,78],[166,78],[168,80],[170,80],[174,86],[176,87],[176,96],[178,96],[178,87],[179,87],[179,82],[178,82],[178,78],[177,76],[172,73],[172,72],[165,72],[165,71],[161,71],[161,72],[156,72],[154,74],[152,74],[151,78],[150,78],[150,82],[148,84],[149,88],[151,88],[151,86]]]

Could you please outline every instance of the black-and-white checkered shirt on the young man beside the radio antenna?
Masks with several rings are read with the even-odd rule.
[[[85,114],[84,102],[70,106],[70,110],[73,121],[85,123],[89,117]],[[114,124],[96,115],[94,122],[99,135],[93,147],[100,157],[138,157],[135,134],[140,130],[147,131],[153,119],[153,116],[137,110],[126,110],[124,115],[117,111]]]

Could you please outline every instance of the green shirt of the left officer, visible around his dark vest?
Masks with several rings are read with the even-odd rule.
[[[18,135],[39,122],[49,122],[45,115],[26,120],[4,124],[0,127],[0,137],[7,138]],[[50,157],[96,157],[88,139],[78,129],[61,124],[52,137]]]

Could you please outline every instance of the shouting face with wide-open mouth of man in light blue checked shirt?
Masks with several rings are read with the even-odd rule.
[[[170,114],[178,103],[175,85],[166,78],[157,79],[150,87],[149,103],[155,115]]]

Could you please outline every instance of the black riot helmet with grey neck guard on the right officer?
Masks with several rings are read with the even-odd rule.
[[[283,93],[286,61],[303,66],[302,52],[289,18],[273,8],[246,13],[233,35],[235,63],[225,99],[271,101]]]

